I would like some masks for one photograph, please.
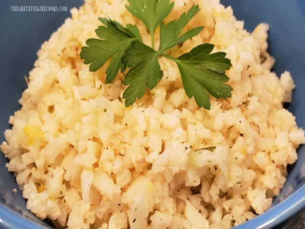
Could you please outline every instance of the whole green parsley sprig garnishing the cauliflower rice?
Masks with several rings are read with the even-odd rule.
[[[162,22],[172,11],[174,2],[170,0],[128,0],[127,10],[140,19],[151,34],[152,47],[143,43],[139,29],[135,25],[126,27],[111,19],[99,18],[103,26],[95,33],[100,39],[88,39],[81,51],[90,71],[97,71],[107,60],[111,60],[106,70],[106,83],[112,82],[118,72],[128,71],[122,81],[129,85],[123,93],[125,105],[130,106],[142,98],[146,89],[152,90],[162,78],[158,57],[174,61],[180,70],[183,87],[188,98],[194,97],[199,107],[210,109],[210,95],[215,98],[230,98],[233,90],[225,84],[229,78],[225,74],[232,65],[225,58],[226,53],[212,53],[213,44],[201,44],[190,52],[175,58],[165,51],[183,43],[200,33],[204,27],[191,29],[183,34],[186,24],[199,12],[194,5],[178,20]],[[154,48],[154,33],[160,26],[159,49]]]

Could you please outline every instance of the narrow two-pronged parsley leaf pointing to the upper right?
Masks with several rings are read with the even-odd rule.
[[[204,27],[197,27],[179,36],[186,24],[198,13],[198,11],[199,6],[194,5],[186,14],[183,13],[178,20],[171,21],[168,24],[161,23],[159,52],[163,52],[183,43],[185,40],[197,35],[203,30]]]

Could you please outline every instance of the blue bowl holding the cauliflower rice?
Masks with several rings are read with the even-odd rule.
[[[252,31],[260,22],[270,25],[269,51],[275,57],[274,71],[279,75],[289,70],[297,85],[292,103],[287,108],[305,129],[305,1],[304,0],[221,0],[232,5],[234,14],[244,20],[245,28]],[[18,110],[17,101],[26,87],[24,76],[33,66],[36,52],[44,40],[69,17],[69,12],[11,12],[11,5],[64,5],[78,7],[83,0],[10,0],[0,1],[0,140],[3,131],[10,128],[8,117]],[[7,160],[0,154],[0,228],[50,228],[26,209],[26,201],[7,172]],[[12,194],[16,188],[17,194]],[[287,182],[273,206],[264,214],[236,229],[270,229],[305,207],[305,147],[299,149],[299,160],[291,168]]]

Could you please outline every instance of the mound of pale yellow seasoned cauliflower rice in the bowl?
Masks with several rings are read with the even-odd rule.
[[[68,229],[228,229],[262,214],[305,143],[282,105],[291,75],[271,72],[268,25],[248,33],[219,0],[175,0],[167,20],[198,3],[188,29],[205,29],[171,54],[215,44],[233,64],[232,98],[199,109],[178,67],[160,57],[162,80],[125,108],[122,73],[106,85],[107,66],[90,72],[79,53],[96,37],[98,17],[136,24],[150,43],[126,3],[86,0],[38,52],[1,144],[27,208]]]

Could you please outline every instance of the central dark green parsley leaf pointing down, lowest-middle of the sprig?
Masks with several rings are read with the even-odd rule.
[[[123,94],[125,106],[130,106],[136,98],[142,98],[146,88],[152,90],[162,78],[159,54],[139,41],[133,42],[131,46],[122,59],[125,65],[131,67],[122,82],[129,85]]]

